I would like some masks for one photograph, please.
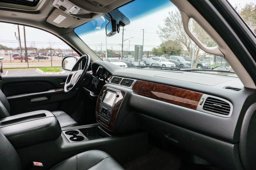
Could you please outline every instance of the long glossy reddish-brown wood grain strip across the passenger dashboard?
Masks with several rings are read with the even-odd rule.
[[[202,93],[166,86],[152,82],[137,80],[132,87],[135,94],[160,100],[170,104],[187,107],[196,110]]]

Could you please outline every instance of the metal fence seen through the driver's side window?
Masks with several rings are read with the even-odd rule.
[[[28,60],[26,61],[26,55]],[[78,56],[72,49],[52,48],[5,48],[0,49],[3,68],[37,68],[37,67],[61,67],[62,59],[67,55]]]

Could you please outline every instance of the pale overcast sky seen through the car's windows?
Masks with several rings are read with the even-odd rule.
[[[232,6],[244,6],[246,3],[256,3],[256,0],[228,0]],[[144,8],[140,8],[144,9]],[[139,10],[140,10],[139,9]],[[164,18],[169,11],[177,10],[177,8],[169,3],[166,6],[161,6],[160,10],[155,10],[150,13],[132,18],[129,25],[124,27],[124,51],[134,51],[134,45],[142,45],[142,37],[144,29],[144,51],[151,51],[153,47],[158,47],[162,40],[157,34],[158,26],[164,25]],[[47,33],[45,31],[35,29],[32,27],[25,27],[27,47],[34,46],[37,48],[44,48],[52,46],[53,48],[69,48],[58,37]],[[121,28],[122,29],[122,28]],[[24,46],[23,26],[20,26],[20,37],[22,46]],[[14,32],[18,35],[17,25],[10,23],[0,23],[0,44],[7,47],[18,47],[18,40]],[[107,37],[108,49],[121,50],[122,44],[122,30],[116,33],[113,37]],[[94,31],[88,34],[81,35],[84,42],[93,50],[105,50],[106,35],[104,29]],[[130,42],[129,42],[130,41]],[[130,46],[129,46],[130,43]],[[102,45],[101,45],[102,44]]]

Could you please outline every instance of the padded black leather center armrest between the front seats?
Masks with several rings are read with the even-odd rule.
[[[0,131],[17,149],[54,140],[61,127],[50,111],[39,110],[0,119]]]

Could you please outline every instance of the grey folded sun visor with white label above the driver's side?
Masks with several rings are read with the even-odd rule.
[[[61,10],[58,9],[55,9],[46,19],[48,23],[55,25],[57,27],[64,28],[70,27],[79,20],[80,18],[70,16],[69,14],[66,14],[65,12],[62,12]]]

